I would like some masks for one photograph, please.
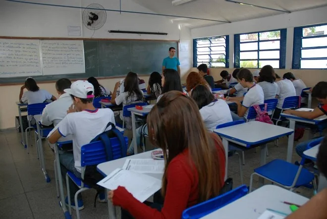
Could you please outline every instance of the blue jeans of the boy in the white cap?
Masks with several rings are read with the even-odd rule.
[[[59,161],[60,161],[61,175],[65,182],[66,182],[67,171],[74,173],[74,175],[80,179],[82,178],[81,173],[75,168],[74,155],[72,153],[59,154]],[[69,191],[70,191],[71,203],[75,203],[74,196],[78,190],[79,190],[78,186],[69,178]],[[81,193],[78,194],[77,199],[82,200]]]

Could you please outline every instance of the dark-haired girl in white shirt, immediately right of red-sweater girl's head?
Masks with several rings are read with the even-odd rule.
[[[213,131],[219,124],[233,121],[227,103],[221,99],[215,100],[207,86],[200,84],[193,88],[192,98],[208,130]]]

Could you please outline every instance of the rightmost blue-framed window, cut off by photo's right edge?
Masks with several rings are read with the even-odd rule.
[[[292,68],[327,68],[327,24],[294,28]]]

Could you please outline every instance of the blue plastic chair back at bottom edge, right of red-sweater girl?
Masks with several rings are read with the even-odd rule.
[[[200,219],[228,205],[229,203],[242,198],[248,193],[248,191],[249,190],[246,185],[241,185],[223,195],[186,209],[182,214],[182,219]],[[235,211],[237,211],[237,209],[235,209]]]

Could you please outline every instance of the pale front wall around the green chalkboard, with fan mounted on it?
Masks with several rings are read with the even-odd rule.
[[[62,4],[86,7],[92,0],[30,0],[39,3]],[[119,0],[97,0],[107,9],[119,9]],[[131,0],[121,1],[122,10],[152,12]],[[151,40],[180,40],[187,44],[188,51],[180,52],[180,67],[182,75],[192,66],[193,43],[190,29],[179,27],[178,21],[164,16],[128,14],[107,11],[105,25],[95,32],[84,27],[81,23],[83,9],[45,6],[27,3],[0,1],[0,36],[9,37],[69,37],[67,26],[82,26],[83,38],[112,38],[112,39],[151,39]],[[111,34],[108,30],[129,30],[146,32],[165,32],[160,35]],[[92,36],[93,35],[93,36]],[[76,38],[74,36],[74,38]],[[168,49],[168,48],[167,48]],[[168,51],[167,51],[168,55]],[[158,63],[161,65],[161,63]],[[148,77],[141,77],[146,82]],[[100,83],[110,90],[120,78],[103,79]],[[14,127],[14,116],[18,115],[15,101],[18,100],[21,85],[0,86],[0,129]],[[56,96],[54,83],[39,84]],[[3,95],[5,94],[5,95]]]

